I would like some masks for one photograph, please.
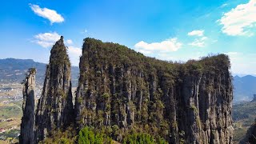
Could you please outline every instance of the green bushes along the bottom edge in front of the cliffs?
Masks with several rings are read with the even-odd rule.
[[[106,130],[95,130],[94,127],[86,126],[79,131],[78,135],[71,128],[68,128],[65,132],[61,130],[53,131],[49,138],[39,143],[46,144],[114,144],[118,143],[107,135]],[[111,135],[111,134],[110,134]],[[126,134],[122,139],[124,144],[167,144],[166,140],[160,137],[154,137],[146,133],[132,133]]]

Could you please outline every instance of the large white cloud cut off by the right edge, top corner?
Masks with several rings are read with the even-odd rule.
[[[254,33],[251,29],[256,23],[256,0],[236,6],[224,13],[218,22],[223,25],[222,33],[224,34],[252,36]]]

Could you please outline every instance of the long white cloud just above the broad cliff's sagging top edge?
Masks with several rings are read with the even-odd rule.
[[[147,43],[144,41],[135,44],[135,49],[142,54],[152,54],[154,52],[166,53],[177,51],[182,47],[182,43],[178,42],[177,38],[167,39],[162,42]]]

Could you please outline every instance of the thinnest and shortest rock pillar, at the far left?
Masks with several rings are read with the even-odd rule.
[[[35,74],[34,68],[30,69],[26,75],[23,86],[23,103],[22,103],[22,124],[19,143],[33,144],[34,143],[34,89],[35,89]]]

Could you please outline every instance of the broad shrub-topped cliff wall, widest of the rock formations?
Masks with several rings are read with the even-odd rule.
[[[79,67],[78,129],[118,126],[121,139],[138,130],[170,143],[232,143],[232,76],[225,54],[179,64],[86,38]]]

